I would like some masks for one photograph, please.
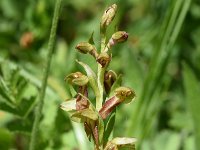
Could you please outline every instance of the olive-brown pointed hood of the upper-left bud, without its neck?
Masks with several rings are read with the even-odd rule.
[[[83,53],[83,54],[87,54],[88,52],[92,51],[93,49],[95,49],[95,47],[88,43],[88,42],[81,42],[78,45],[76,45],[75,47],[79,52]]]

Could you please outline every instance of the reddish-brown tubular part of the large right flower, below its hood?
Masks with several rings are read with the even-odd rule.
[[[111,97],[107,100],[102,108],[99,110],[99,114],[103,119],[106,119],[107,116],[119,105],[120,101],[116,96]]]

